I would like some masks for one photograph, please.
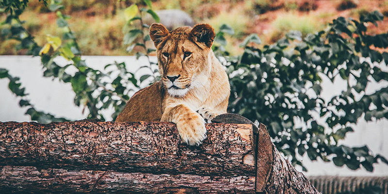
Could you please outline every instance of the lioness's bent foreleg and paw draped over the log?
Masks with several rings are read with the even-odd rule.
[[[207,137],[205,120],[186,105],[179,104],[170,109],[166,108],[161,121],[177,124],[180,138],[190,146],[200,145]]]

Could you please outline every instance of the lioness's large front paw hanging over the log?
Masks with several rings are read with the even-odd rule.
[[[199,146],[207,137],[204,119],[197,113],[184,117],[177,123],[177,128],[182,142],[190,146]]]

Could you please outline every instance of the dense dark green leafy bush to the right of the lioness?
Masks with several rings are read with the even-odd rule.
[[[360,117],[388,118],[387,88],[370,95],[364,92],[372,80],[388,81],[388,72],[373,65],[388,62],[387,52],[374,49],[388,47],[388,34],[367,32],[367,23],[377,25],[382,20],[379,12],[359,21],[339,17],[327,31],[304,38],[300,32],[289,32],[263,49],[251,43],[260,43],[257,36],[248,36],[242,56],[228,63],[232,89],[228,110],[267,124],[275,145],[294,165],[303,167],[297,154],[306,153],[310,160],[319,157],[353,170],[362,165],[372,171],[378,159],[388,164],[367,146],[339,145]],[[361,57],[372,63],[362,62]],[[323,77],[342,79],[348,86],[326,102],[321,97]]]

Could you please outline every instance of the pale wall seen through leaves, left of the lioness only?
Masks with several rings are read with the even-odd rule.
[[[104,71],[104,66],[114,62],[125,62],[131,72],[135,72],[145,63],[145,58],[136,61],[133,56],[85,56],[86,64]],[[156,60],[152,59],[152,60]],[[58,57],[54,60],[58,65],[69,64],[64,58]],[[82,113],[82,107],[74,105],[75,94],[70,83],[52,80],[52,78],[43,77],[43,66],[40,63],[40,57],[32,56],[0,56],[0,68],[9,70],[13,77],[19,77],[22,87],[26,88],[28,99],[38,111],[51,113],[57,117],[65,117],[70,120],[79,120],[86,118],[87,110]],[[71,68],[68,68],[71,73]],[[139,71],[137,78],[144,74],[146,69]],[[8,89],[8,80],[0,80],[0,121],[29,121],[29,115],[24,115],[27,108],[18,106],[20,97],[16,97]],[[107,120],[112,120],[112,113],[104,113]]]

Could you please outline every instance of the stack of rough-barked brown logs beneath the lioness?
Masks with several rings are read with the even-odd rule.
[[[0,123],[0,190],[317,193],[281,160],[264,125],[259,134],[250,124],[206,127],[204,143],[187,146],[173,123]]]

